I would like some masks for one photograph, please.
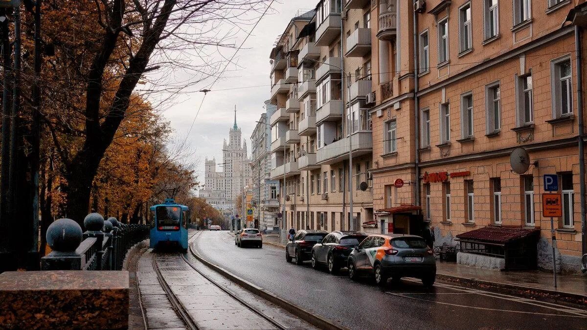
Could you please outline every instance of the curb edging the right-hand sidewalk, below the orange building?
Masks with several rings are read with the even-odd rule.
[[[490,282],[484,280],[477,280],[475,278],[465,278],[465,277],[457,277],[454,275],[448,274],[441,274],[436,273],[436,278],[438,280],[447,281],[447,282],[459,282],[464,284],[475,285],[477,287],[483,287],[484,289],[500,289],[501,291],[516,291],[516,292],[524,292],[524,295],[528,295],[530,297],[535,295],[548,295],[551,298],[556,300],[564,300],[568,302],[573,302],[575,304],[587,305],[587,296],[581,294],[573,294],[572,292],[564,292],[564,291],[555,291],[549,289],[542,289],[542,288],[534,288],[534,287],[526,287],[524,285],[517,285],[517,284],[507,284],[507,283],[500,283],[500,282]]]

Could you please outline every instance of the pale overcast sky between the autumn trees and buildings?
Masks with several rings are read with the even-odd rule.
[[[220,90],[234,87],[268,85],[269,82],[269,52],[279,36],[288,25],[291,18],[299,9],[313,8],[318,0],[278,0],[272,5],[276,11],[272,15],[265,15],[257,28],[237,53],[236,59],[242,69],[230,72],[227,78],[218,80],[205,97],[204,103],[195,120],[194,127],[187,137],[188,143],[195,151],[199,160],[198,177],[203,183],[204,159],[216,157],[216,163],[222,163],[222,142],[228,139],[228,130],[234,123],[234,106],[237,106],[237,124],[242,130],[242,137],[247,140],[249,154],[251,153],[251,133],[255,128],[255,120],[259,119],[264,101],[270,97],[270,86],[254,87],[236,90]],[[251,26],[245,26],[247,32]],[[240,45],[246,33],[239,36],[235,44]],[[228,56],[234,50],[228,50]],[[234,69],[229,66],[228,69]],[[196,86],[204,88],[205,86]],[[200,88],[195,88],[196,90]],[[217,91],[214,91],[217,90]],[[190,93],[180,96],[174,106],[164,112],[167,120],[178,137],[185,137],[194,120],[195,113],[200,106],[203,93]],[[217,170],[221,171],[221,167]]]

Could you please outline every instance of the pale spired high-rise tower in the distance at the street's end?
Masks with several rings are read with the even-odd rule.
[[[222,171],[216,170],[216,160],[205,163],[205,185],[200,196],[230,219],[235,210],[235,198],[251,182],[251,160],[247,154],[247,141],[242,140],[241,129],[237,126],[237,110],[234,110],[234,125],[228,131],[228,142],[222,146]]]

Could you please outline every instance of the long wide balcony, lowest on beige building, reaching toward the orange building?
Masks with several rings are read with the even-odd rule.
[[[372,153],[373,136],[371,131],[352,134],[353,157]],[[349,158],[349,137],[323,146],[316,152],[316,164],[335,164]]]

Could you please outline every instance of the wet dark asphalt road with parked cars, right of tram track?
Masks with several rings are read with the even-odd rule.
[[[285,251],[264,245],[238,248],[226,231],[205,231],[194,247],[208,261],[352,329],[558,328],[586,329],[578,308],[458,287],[403,280],[382,289],[370,280],[353,282],[285,261]]]

